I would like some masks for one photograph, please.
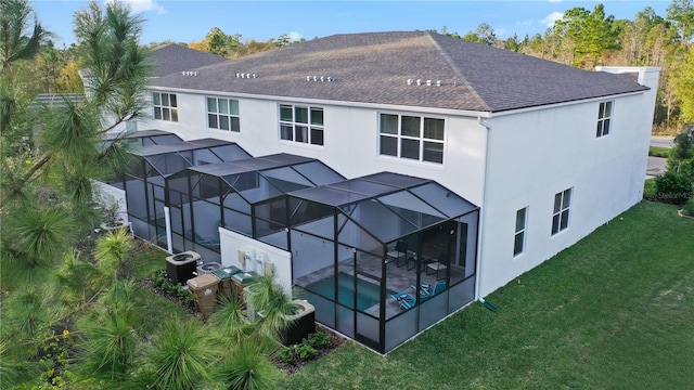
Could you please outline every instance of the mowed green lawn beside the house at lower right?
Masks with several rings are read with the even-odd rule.
[[[694,220],[643,202],[387,356],[346,342],[286,389],[694,389]]]

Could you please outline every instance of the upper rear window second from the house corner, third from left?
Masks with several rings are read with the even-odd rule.
[[[286,141],[323,145],[323,108],[280,105],[280,138]]]

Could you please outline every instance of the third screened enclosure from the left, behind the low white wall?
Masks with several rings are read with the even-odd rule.
[[[285,194],[344,180],[320,160],[291,154],[190,167],[166,179],[172,247],[219,252],[219,226],[286,247]]]

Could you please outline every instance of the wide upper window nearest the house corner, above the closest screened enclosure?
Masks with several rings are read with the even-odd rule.
[[[445,129],[439,118],[381,114],[380,154],[444,164]]]

